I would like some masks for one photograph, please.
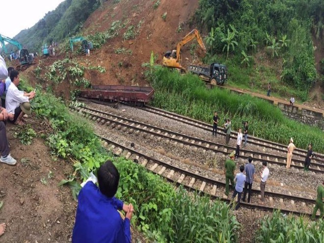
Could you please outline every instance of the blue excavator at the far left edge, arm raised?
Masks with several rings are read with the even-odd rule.
[[[30,65],[35,64],[34,56],[32,54],[29,54],[28,50],[24,49],[23,46],[17,40],[11,39],[9,37],[0,34],[0,45],[2,49],[1,52],[3,52],[5,55],[9,55],[9,52],[5,46],[5,42],[13,46],[16,46],[19,50],[18,52],[19,65],[16,67],[16,70],[24,71]]]

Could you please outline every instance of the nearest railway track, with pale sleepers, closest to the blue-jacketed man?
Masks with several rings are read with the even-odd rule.
[[[231,200],[224,195],[225,183],[217,181],[202,175],[192,173],[188,170],[179,168],[163,162],[153,157],[147,156],[133,148],[114,142],[106,137],[98,135],[105,141],[105,147],[112,151],[116,156],[123,156],[126,159],[133,160],[144,166],[149,171],[164,177],[167,181],[182,185],[189,191],[198,191],[201,194],[209,196],[211,199],[220,199],[230,202]],[[252,189],[251,201],[258,200],[260,194],[259,189]],[[265,191],[265,205],[256,203],[241,202],[241,206],[250,209],[258,209],[264,211],[281,210],[283,213],[295,215],[310,216],[314,207],[315,200],[312,198],[303,198],[294,195]]]

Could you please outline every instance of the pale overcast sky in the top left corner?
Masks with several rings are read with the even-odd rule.
[[[30,28],[64,0],[0,0],[0,34],[13,38]]]

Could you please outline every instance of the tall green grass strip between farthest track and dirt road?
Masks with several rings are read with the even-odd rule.
[[[156,67],[148,72],[155,88],[153,106],[212,124],[214,111],[218,112],[218,125],[231,119],[236,131],[249,122],[249,134],[287,144],[293,137],[300,148],[313,143],[315,151],[324,153],[324,133],[317,127],[288,119],[279,108],[250,95],[232,94],[226,89],[207,89],[197,76],[179,75],[176,71]]]

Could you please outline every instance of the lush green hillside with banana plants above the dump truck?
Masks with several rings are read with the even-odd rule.
[[[319,78],[312,37],[323,42],[323,13],[323,0],[200,0],[195,22],[209,32],[205,62],[225,62],[230,82],[269,81],[281,95],[291,87],[306,100]]]

